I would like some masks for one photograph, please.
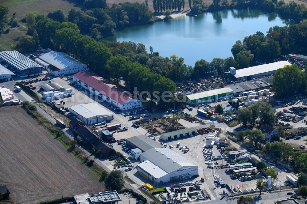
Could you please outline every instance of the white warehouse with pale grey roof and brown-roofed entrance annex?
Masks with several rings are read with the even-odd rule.
[[[35,62],[44,67],[52,76],[75,74],[87,70],[87,65],[64,52],[48,52],[35,59]]]

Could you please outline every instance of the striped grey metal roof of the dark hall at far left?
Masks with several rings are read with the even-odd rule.
[[[41,65],[33,62],[31,59],[25,57],[25,55],[22,55],[15,50],[0,52],[0,58],[10,63],[18,70],[25,70],[33,67],[42,67]]]

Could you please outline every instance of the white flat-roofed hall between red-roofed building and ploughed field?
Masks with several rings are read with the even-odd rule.
[[[87,125],[114,119],[110,111],[95,103],[75,105],[69,107],[69,111]]]

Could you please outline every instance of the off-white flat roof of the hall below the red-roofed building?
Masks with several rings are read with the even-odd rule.
[[[92,118],[97,115],[103,115],[103,116],[113,115],[110,113],[110,111],[107,111],[105,108],[95,103],[79,104],[79,105],[75,105],[69,108],[77,112],[84,118]]]

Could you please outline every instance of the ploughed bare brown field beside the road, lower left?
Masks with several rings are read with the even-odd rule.
[[[21,107],[0,108],[0,183],[14,203],[103,190],[99,178]]]

